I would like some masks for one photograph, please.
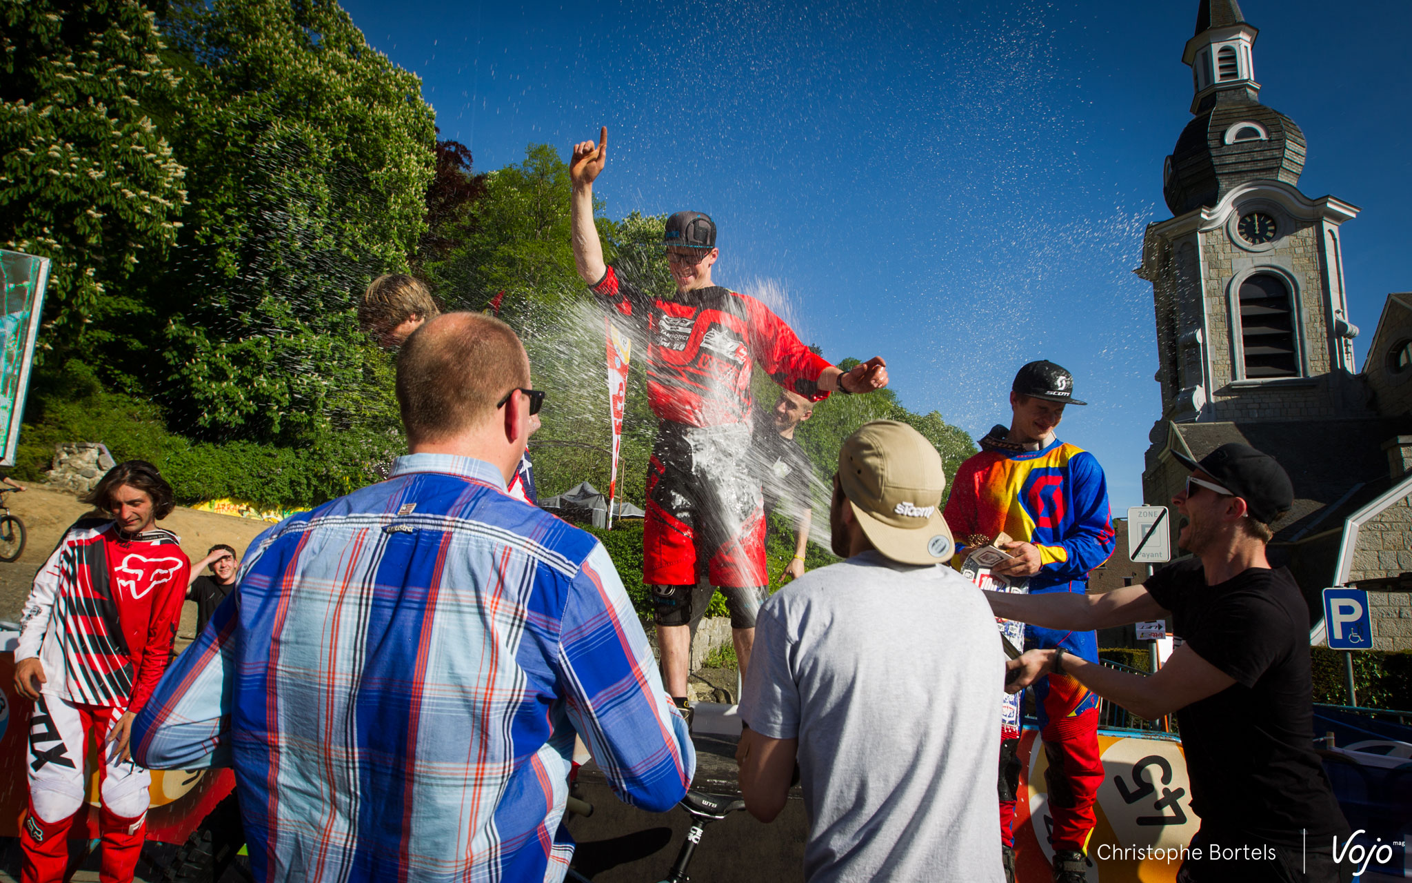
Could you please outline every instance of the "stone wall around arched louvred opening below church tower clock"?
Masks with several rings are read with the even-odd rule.
[[[1303,362],[1309,377],[1327,376],[1329,328],[1323,285],[1324,268],[1319,250],[1319,227],[1310,222],[1279,218],[1281,226],[1292,229],[1269,251],[1247,251],[1226,233],[1226,227],[1203,237],[1206,259],[1206,316],[1207,353],[1211,365],[1213,420],[1305,420],[1339,417],[1340,410],[1323,380],[1306,383],[1272,381],[1251,386],[1231,386],[1236,381],[1236,359],[1231,339],[1230,280],[1247,270],[1278,267],[1298,280]],[[1236,305],[1238,309],[1238,304]],[[1234,342],[1238,346],[1238,340]]]

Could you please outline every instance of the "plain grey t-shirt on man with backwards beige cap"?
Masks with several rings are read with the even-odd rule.
[[[1005,654],[981,591],[868,551],[760,609],[740,716],[799,739],[810,883],[1001,883]]]

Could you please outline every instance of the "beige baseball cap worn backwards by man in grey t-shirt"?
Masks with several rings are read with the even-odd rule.
[[[863,424],[839,449],[839,485],[873,545],[902,564],[949,561],[955,543],[942,517],[942,456],[895,420]]]

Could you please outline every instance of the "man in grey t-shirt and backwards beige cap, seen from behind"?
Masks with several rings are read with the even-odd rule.
[[[945,567],[945,490],[921,432],[863,425],[839,451],[829,506],[846,561],[760,609],[740,791],[772,821],[798,761],[810,883],[1004,880],[994,801],[1005,656],[983,593]]]

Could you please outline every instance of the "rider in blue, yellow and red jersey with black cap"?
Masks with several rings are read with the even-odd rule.
[[[1025,578],[1032,593],[1083,593],[1089,571],[1113,554],[1108,487],[1099,461],[1055,438],[1073,397],[1073,376],[1053,362],[1031,362],[1011,384],[1010,427],[997,425],[980,439],[981,452],[962,463],[946,502],[946,523],[964,545],[1011,537],[1011,561],[997,574]],[[957,564],[966,551],[957,555]],[[1027,647],[1063,647],[1099,661],[1099,641],[1089,630],[1025,629]],[[1018,705],[1018,704],[1017,704]],[[1096,822],[1093,804],[1103,781],[1099,759],[1099,699],[1066,677],[1035,684],[1035,711],[1049,767],[1049,814],[1056,883],[1084,879],[1084,851]],[[1019,783],[1018,708],[1001,722],[1000,836],[1007,876],[1014,863],[1015,788]]]

